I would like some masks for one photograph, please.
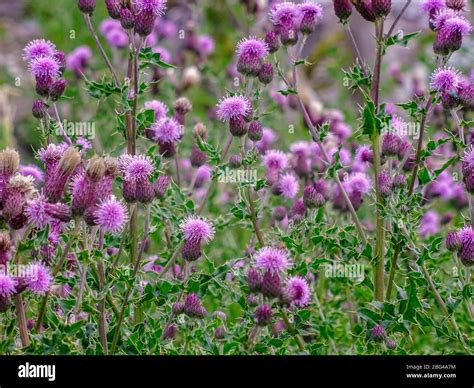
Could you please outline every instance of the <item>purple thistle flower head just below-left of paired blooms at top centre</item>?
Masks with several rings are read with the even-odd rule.
[[[268,53],[265,41],[254,36],[242,39],[237,44],[237,70],[242,74],[257,76]]]

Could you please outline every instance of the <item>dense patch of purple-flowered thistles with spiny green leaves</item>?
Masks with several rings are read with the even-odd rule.
[[[78,0],[74,47],[24,47],[0,349],[470,354],[465,2],[188,3]]]

